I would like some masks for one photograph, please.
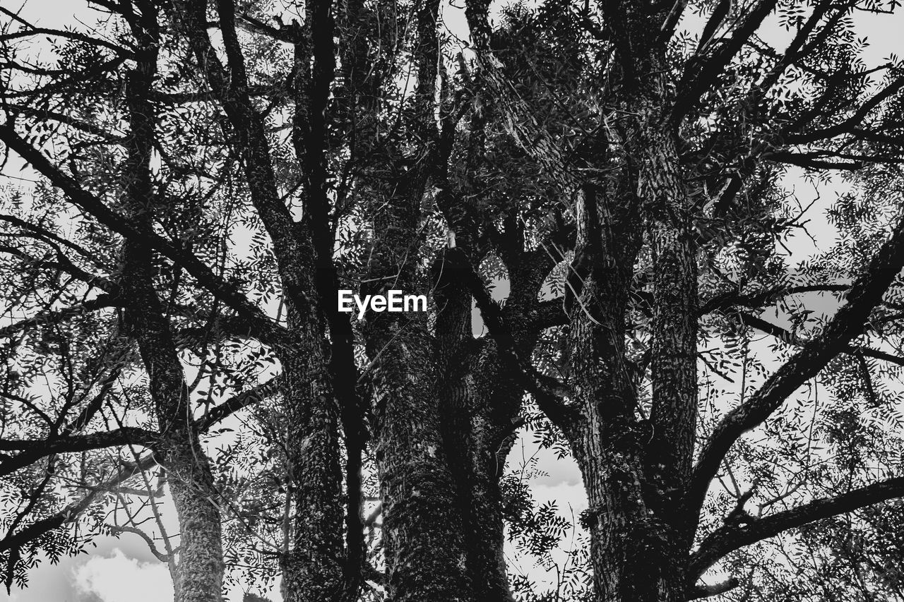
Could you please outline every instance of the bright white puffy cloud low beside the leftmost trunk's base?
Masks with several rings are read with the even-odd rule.
[[[173,599],[173,581],[160,562],[128,558],[122,550],[95,556],[73,569],[79,602],[165,602]]]

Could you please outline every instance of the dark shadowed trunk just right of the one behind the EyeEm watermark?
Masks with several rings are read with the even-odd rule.
[[[461,251],[454,252],[468,261]],[[504,455],[497,452],[512,432],[522,394],[512,383],[500,386],[494,344],[474,338],[472,298],[459,274],[469,265],[440,258],[434,268],[439,410],[461,510],[471,597],[511,602],[499,489]]]

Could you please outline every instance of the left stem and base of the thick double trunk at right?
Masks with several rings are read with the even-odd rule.
[[[617,186],[587,186],[579,203],[569,372],[584,410],[567,435],[588,495],[582,521],[590,532],[594,599],[671,602],[683,599],[686,549],[682,554],[673,515],[651,503],[646,452],[654,428],[636,398],[644,366],[625,350],[626,300],[641,241],[632,180],[625,174]]]

